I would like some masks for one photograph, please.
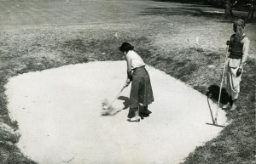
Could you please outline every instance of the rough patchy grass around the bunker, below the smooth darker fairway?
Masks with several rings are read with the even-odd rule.
[[[20,136],[19,122],[9,118],[8,98],[4,93],[8,79],[29,71],[42,71],[61,65],[124,59],[118,50],[121,42],[135,45],[137,53],[148,65],[165,71],[216,101],[224,66],[223,42],[226,34],[232,32],[230,21],[220,18],[209,20],[208,16],[203,15],[190,15],[188,19],[186,14],[172,16],[169,13],[162,14],[160,9],[156,8],[150,13],[160,13],[159,17],[152,16],[152,20],[140,20],[138,23],[38,26],[36,29],[28,25],[18,29],[12,26],[2,29],[0,163],[36,163],[16,147]],[[256,49],[254,30],[254,24],[247,25],[247,36],[251,39],[250,54]],[[115,37],[115,33],[119,37]],[[196,37],[199,37],[200,44],[195,42]],[[217,138],[197,147],[184,164],[247,164],[255,161],[254,71],[255,59],[251,55],[242,75],[239,110],[227,110],[230,125],[224,127]],[[224,101],[225,97],[222,97],[221,102]]]

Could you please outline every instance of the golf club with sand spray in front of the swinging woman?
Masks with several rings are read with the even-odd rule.
[[[117,94],[117,96],[113,99],[113,101],[111,103],[109,103],[108,99],[104,99],[102,101],[102,116],[113,116],[116,113],[118,113],[120,110],[117,110],[115,108],[113,108],[113,103],[116,99],[119,98],[120,93],[123,92],[123,90],[125,89],[125,87],[123,87],[119,93]]]

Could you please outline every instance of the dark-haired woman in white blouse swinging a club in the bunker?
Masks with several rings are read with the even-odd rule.
[[[149,116],[151,111],[148,105],[154,101],[148,71],[145,69],[143,59],[133,51],[133,46],[129,42],[124,42],[119,51],[125,54],[127,62],[127,80],[125,87],[131,82],[130,110],[128,122],[139,122],[139,114]]]

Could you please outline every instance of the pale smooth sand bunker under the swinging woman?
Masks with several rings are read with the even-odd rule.
[[[138,123],[126,121],[128,109],[101,116],[102,99],[112,100],[125,84],[125,66],[91,62],[11,78],[6,93],[22,152],[42,164],[175,164],[222,130],[206,125],[212,118],[205,95],[152,67],[151,116]],[[125,88],[121,98],[129,93]],[[124,102],[113,106],[121,109]],[[224,124],[224,111],[218,116]]]

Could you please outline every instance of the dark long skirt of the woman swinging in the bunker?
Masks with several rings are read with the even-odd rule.
[[[149,105],[154,101],[151,82],[145,67],[136,68],[132,73],[130,108]]]

